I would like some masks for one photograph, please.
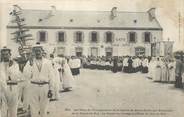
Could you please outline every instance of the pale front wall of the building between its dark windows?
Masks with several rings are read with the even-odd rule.
[[[11,40],[13,35],[10,33],[15,32],[16,29],[8,28],[8,41],[7,44],[9,47],[13,49],[13,55],[16,56],[18,45]],[[114,42],[112,44],[105,43],[105,32],[109,30],[73,30],[73,29],[30,29],[28,33],[33,35],[32,41],[28,43],[30,45],[34,45],[38,40],[38,31],[47,31],[48,32],[48,40],[46,43],[43,43],[45,49],[48,53],[51,53],[55,47],[64,47],[65,48],[65,55],[75,55],[75,48],[82,47],[83,48],[83,55],[87,56],[91,54],[91,47],[97,47],[98,55],[105,56],[105,48],[112,47],[113,48],[113,56],[124,56],[124,55],[135,55],[135,47],[144,47],[146,56],[151,55],[151,44],[145,43],[143,41],[143,33],[147,30],[110,30],[114,33]],[[66,42],[65,43],[57,43],[57,32],[64,31],[66,32]],[[84,33],[84,42],[79,44],[74,42],[74,32],[82,31]],[[98,43],[90,43],[90,32],[97,31],[99,33],[99,42]],[[128,32],[133,31],[137,33],[137,42],[130,44],[128,42]],[[151,42],[154,41],[162,41],[162,31],[159,30],[149,30],[151,32]]]

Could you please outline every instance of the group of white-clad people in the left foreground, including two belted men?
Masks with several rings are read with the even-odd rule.
[[[62,55],[46,57],[41,45],[31,56],[11,58],[11,49],[1,49],[0,116],[17,117],[18,109],[31,117],[47,117],[49,102],[59,100],[59,92],[74,90],[80,74],[80,59]]]

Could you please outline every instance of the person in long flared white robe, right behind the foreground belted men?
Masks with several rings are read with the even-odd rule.
[[[66,60],[62,61],[62,86],[64,91],[71,91],[74,88],[74,78]]]

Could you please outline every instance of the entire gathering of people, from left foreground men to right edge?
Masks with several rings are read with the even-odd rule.
[[[11,58],[11,49],[1,49],[0,61],[0,116],[17,117],[17,110],[30,110],[31,117],[46,117],[50,101],[59,100],[60,91],[72,91],[80,68],[111,70],[113,73],[148,73],[154,82],[174,83],[183,88],[183,56],[166,57],[47,57],[41,45],[32,47],[32,53]]]

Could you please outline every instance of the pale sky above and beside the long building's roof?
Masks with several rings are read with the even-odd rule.
[[[0,47],[6,45],[6,25],[12,10],[17,4],[22,9],[49,10],[54,5],[57,10],[145,12],[156,8],[156,16],[163,27],[163,39],[174,41],[174,50],[184,50],[184,0],[0,0]],[[179,12],[180,39],[179,39]]]

